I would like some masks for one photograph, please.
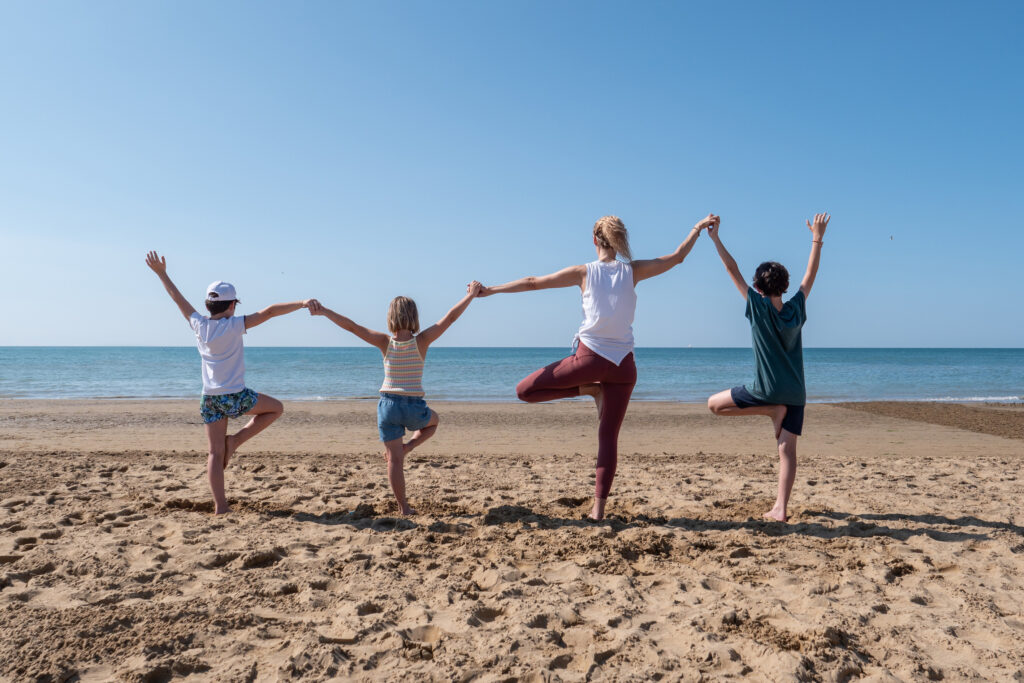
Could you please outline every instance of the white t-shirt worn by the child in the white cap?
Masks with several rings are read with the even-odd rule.
[[[193,313],[188,325],[196,333],[196,346],[203,358],[203,393],[220,396],[246,388],[246,360],[242,335],[246,333],[243,315],[218,317]]]

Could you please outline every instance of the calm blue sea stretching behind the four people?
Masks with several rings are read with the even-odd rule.
[[[567,348],[430,349],[427,397],[515,400],[515,384]],[[811,401],[1024,401],[1024,349],[808,348]],[[702,401],[753,379],[749,348],[639,348],[634,399]],[[247,347],[247,384],[279,398],[376,397],[380,353],[369,346]],[[193,347],[0,346],[0,397],[198,397]]]

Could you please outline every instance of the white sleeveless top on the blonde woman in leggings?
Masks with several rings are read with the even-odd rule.
[[[573,340],[616,366],[633,351],[633,314],[637,295],[633,266],[622,261],[587,264],[583,292],[583,325]]]

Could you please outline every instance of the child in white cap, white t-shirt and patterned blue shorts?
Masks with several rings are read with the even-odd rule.
[[[206,424],[206,435],[210,441],[210,457],[206,472],[213,494],[214,514],[230,512],[224,495],[224,469],[240,445],[270,426],[285,412],[285,407],[273,396],[256,393],[246,387],[246,364],[243,354],[242,335],[249,328],[267,322],[271,317],[284,315],[300,308],[317,307],[315,299],[275,303],[248,315],[234,316],[234,307],[240,303],[234,287],[217,281],[206,290],[206,308],[209,315],[202,315],[181,295],[167,275],[167,259],[157,252],[145,257],[150,266],[178,310],[188,321],[196,333],[196,346],[203,359],[203,398],[200,414]],[[242,415],[251,416],[245,427],[233,434],[227,433],[227,418]]]

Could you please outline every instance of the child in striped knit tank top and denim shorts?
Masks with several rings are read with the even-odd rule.
[[[395,297],[388,306],[390,335],[357,325],[326,306],[317,305],[309,309],[310,314],[324,315],[342,330],[376,346],[384,356],[384,383],[377,402],[377,429],[384,442],[387,478],[398,510],[403,515],[416,513],[406,498],[406,455],[437,431],[437,413],[430,410],[423,398],[423,362],[430,345],[459,319],[479,294],[480,283],[470,283],[466,290],[466,296],[444,317],[423,332],[420,332],[416,302],[407,297]],[[413,432],[413,436],[403,442],[407,429]]]

